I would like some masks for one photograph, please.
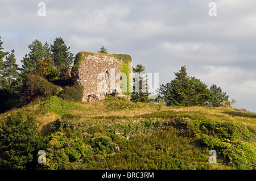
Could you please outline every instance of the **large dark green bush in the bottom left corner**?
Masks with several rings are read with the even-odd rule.
[[[0,169],[35,166],[37,151],[44,145],[35,117],[17,111],[0,121]]]

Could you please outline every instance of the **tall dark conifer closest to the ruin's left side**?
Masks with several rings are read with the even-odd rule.
[[[56,37],[55,41],[53,41],[53,45],[51,45],[51,57],[59,74],[73,63],[74,54],[69,52],[69,49],[70,47],[67,47],[61,37]]]

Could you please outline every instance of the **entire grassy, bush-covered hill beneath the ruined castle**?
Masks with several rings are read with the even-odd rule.
[[[38,126],[32,131],[40,147],[31,146],[31,158],[25,161],[9,159],[11,151],[4,150],[4,144],[20,148],[35,141],[35,136],[11,141],[15,137],[11,132],[27,128],[22,124],[26,121],[16,121],[20,117]],[[256,169],[256,113],[232,108],[163,107],[159,111],[155,104],[112,96],[95,103],[52,96],[3,113],[0,129],[0,138],[9,140],[1,145],[2,168]],[[46,150],[46,164],[37,163],[39,149]],[[217,163],[209,163],[209,150],[216,150]]]

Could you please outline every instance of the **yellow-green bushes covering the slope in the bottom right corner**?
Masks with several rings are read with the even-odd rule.
[[[232,163],[235,169],[256,169],[256,144],[249,144],[251,134],[241,123],[183,120],[185,135],[199,146],[217,151],[219,158]]]

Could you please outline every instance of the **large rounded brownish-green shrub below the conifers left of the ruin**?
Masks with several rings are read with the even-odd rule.
[[[40,75],[31,74],[24,82],[22,96],[24,102],[29,103],[35,99],[48,99],[52,95],[59,94],[61,90],[61,87],[53,85]]]

